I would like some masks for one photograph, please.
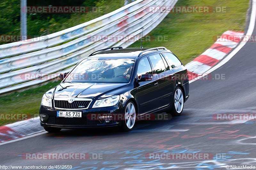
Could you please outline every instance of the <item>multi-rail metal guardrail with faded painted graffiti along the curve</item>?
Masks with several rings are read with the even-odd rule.
[[[174,6],[177,1],[137,0],[84,24],[50,34],[45,39],[39,38],[41,41],[32,39],[1,45],[0,94],[52,80],[60,72],[70,71],[80,60],[98,49],[130,46],[140,39],[142,27],[146,35],[168,14],[164,11],[152,12],[151,6]],[[105,40],[103,36],[92,39],[97,35],[106,35],[111,39]],[[56,46],[63,42],[67,43]]]

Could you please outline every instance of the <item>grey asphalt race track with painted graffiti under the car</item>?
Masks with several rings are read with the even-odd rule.
[[[256,29],[252,35],[256,35]],[[256,42],[247,44],[211,75],[197,80],[183,115],[140,121],[131,132],[62,130],[0,146],[0,165],[72,165],[72,169],[226,169],[256,166],[256,121],[214,120],[217,113],[255,113]],[[148,159],[148,153],[210,153],[206,160]],[[88,153],[86,160],[28,160],[23,153]],[[92,159],[98,154],[102,159]],[[217,156],[216,156],[217,154]]]

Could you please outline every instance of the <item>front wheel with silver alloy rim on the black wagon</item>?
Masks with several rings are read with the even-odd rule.
[[[121,124],[121,130],[132,131],[136,121],[136,107],[132,101],[128,101],[125,104],[124,119]]]

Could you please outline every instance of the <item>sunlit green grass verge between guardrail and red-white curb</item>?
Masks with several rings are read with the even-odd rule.
[[[228,30],[244,31],[249,0],[179,0],[176,6],[226,8],[221,13],[170,13],[148,34],[153,41],[146,40],[143,47],[165,46],[187,64],[212,46],[216,36]],[[140,42],[131,47],[140,47]]]

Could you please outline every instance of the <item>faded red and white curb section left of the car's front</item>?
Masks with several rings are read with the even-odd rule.
[[[39,117],[7,124],[0,127],[0,144],[44,131]]]

